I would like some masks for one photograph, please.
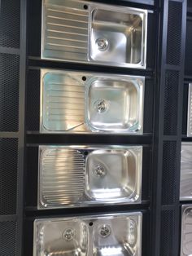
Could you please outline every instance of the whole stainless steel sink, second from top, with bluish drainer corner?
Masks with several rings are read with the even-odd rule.
[[[41,69],[41,133],[142,134],[145,77]]]

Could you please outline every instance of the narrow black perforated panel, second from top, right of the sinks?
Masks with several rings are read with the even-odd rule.
[[[164,90],[164,135],[177,135],[179,73],[166,71]]]

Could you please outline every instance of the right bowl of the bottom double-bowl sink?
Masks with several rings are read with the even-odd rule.
[[[133,218],[120,216],[98,219],[93,231],[94,255],[137,255],[137,232],[137,221]]]

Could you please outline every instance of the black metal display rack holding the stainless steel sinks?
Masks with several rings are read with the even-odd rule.
[[[149,10],[146,69],[41,60],[41,0],[0,1],[0,256],[33,255],[39,217],[141,210],[142,256],[179,256],[181,140],[192,82],[192,5],[186,0],[98,0]],[[186,36],[185,36],[186,34]],[[186,38],[186,45],[185,45]],[[186,52],[186,54],[185,54]],[[143,135],[42,135],[40,68],[146,77]],[[142,203],[37,210],[39,144],[143,145]]]

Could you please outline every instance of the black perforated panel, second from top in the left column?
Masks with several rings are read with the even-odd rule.
[[[0,53],[0,131],[17,131],[20,56]]]

